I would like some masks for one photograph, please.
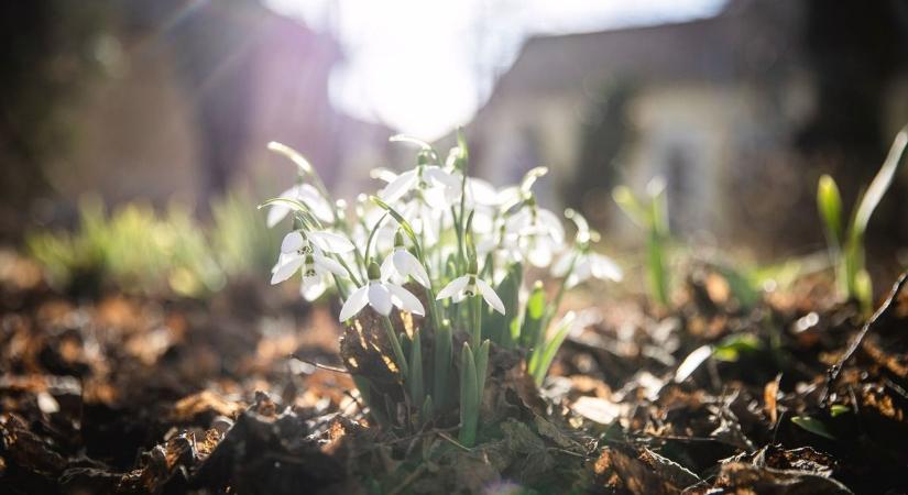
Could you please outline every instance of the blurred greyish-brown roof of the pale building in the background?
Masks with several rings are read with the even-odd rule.
[[[515,92],[583,90],[610,76],[722,80],[765,70],[791,48],[787,34],[795,3],[776,0],[757,8],[741,0],[710,19],[534,36],[499,80],[490,103]]]

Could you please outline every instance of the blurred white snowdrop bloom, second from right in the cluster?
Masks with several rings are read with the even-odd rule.
[[[532,197],[526,207],[506,220],[505,232],[516,237],[526,260],[538,267],[549,266],[565,242],[561,221],[551,211],[537,207]]]

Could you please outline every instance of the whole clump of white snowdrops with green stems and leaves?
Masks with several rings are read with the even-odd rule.
[[[387,365],[403,391],[396,406],[413,411],[401,419],[394,410],[401,407],[389,407],[368,375],[353,373],[371,416],[412,430],[457,407],[459,441],[471,446],[490,345],[525,351],[527,373],[541,383],[576,324],[572,312],[555,321],[565,292],[590,278],[619,280],[622,273],[592,251],[598,234],[580,215],[565,212],[576,227],[569,242],[561,218],[536,202],[533,186],[545,168],[530,169],[517,186],[496,189],[468,176],[462,139],[444,161],[425,142],[392,140],[417,146],[415,167],[373,170],[384,186],[373,196],[361,195],[352,207],[332,199],[300,154],[269,145],[298,172],[292,188],[263,204],[270,208],[269,226],[292,221],[271,282],[302,275],[300,294],[308,300],[333,287],[343,300],[339,320],[348,324],[371,307],[392,351]],[[557,289],[527,284],[529,267],[549,271]],[[397,316],[418,324],[402,324]],[[457,355],[453,342],[461,340]]]

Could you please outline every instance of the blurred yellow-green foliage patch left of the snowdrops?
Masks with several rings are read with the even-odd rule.
[[[211,210],[212,221],[204,226],[177,202],[163,212],[132,202],[108,213],[100,199],[87,197],[76,232],[34,231],[25,243],[61,290],[200,298],[222,288],[228,277],[266,273],[278,245],[248,193],[229,193],[214,200]]]

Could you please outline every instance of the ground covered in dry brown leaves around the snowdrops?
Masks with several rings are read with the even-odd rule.
[[[370,426],[330,304],[77,300],[8,258],[0,493],[908,493],[902,283],[866,324],[825,279],[745,307],[703,267],[671,311],[594,301],[541,389],[493,349],[466,449]]]

